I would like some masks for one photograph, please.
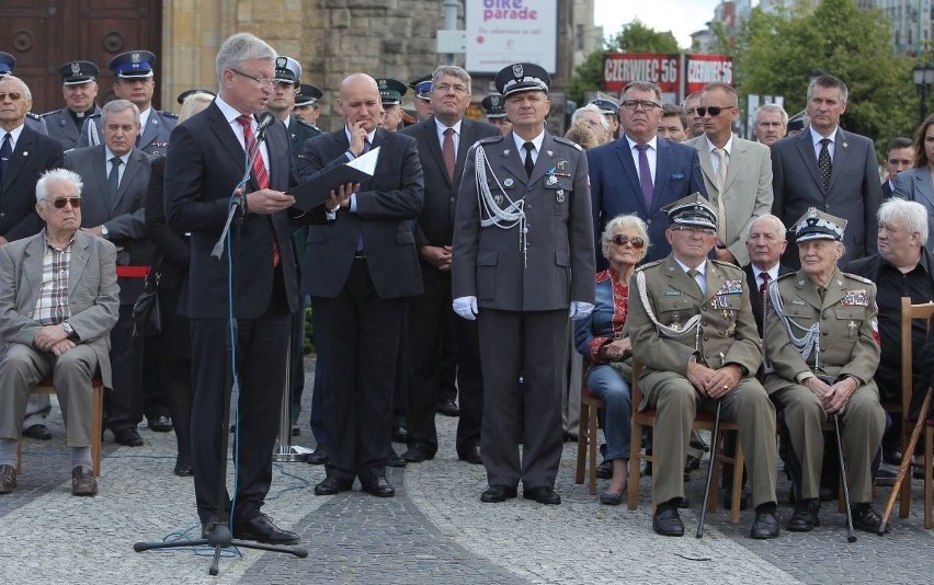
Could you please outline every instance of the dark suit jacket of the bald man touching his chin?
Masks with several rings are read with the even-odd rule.
[[[348,162],[350,147],[343,128],[305,142],[299,154],[301,182],[314,181],[327,169]],[[380,147],[373,177],[356,192],[356,211],[341,209],[337,221],[308,229],[303,263],[303,291],[334,298],[344,286],[357,240],[363,238],[366,266],[383,299],[422,292],[412,220],[424,204],[422,165],[415,140],[376,129],[373,148]]]

